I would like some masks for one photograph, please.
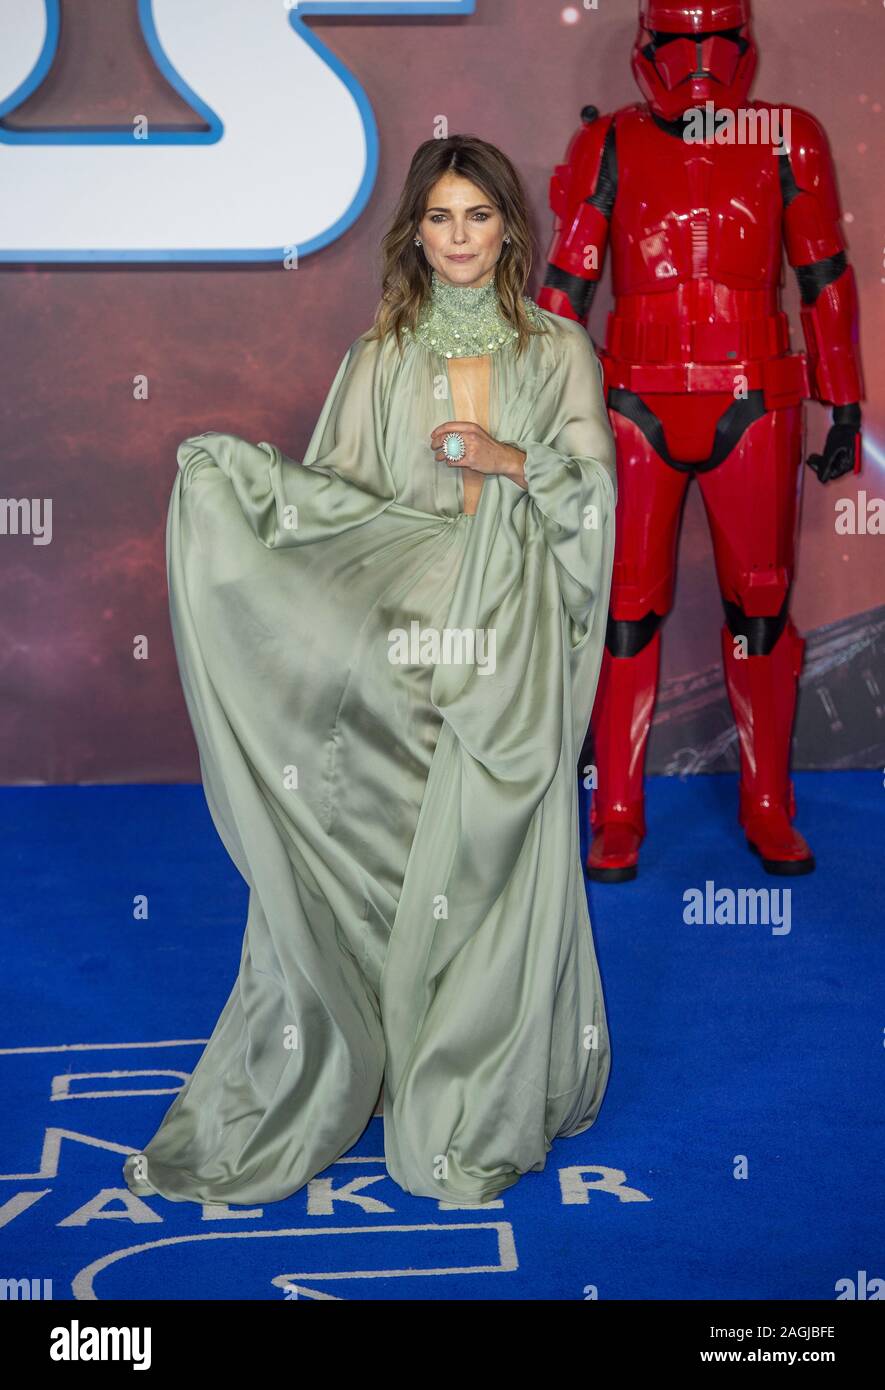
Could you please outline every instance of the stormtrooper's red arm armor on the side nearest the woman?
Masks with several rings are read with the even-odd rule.
[[[596,107],[585,107],[582,122],[550,179],[554,232],[538,295],[542,309],[581,324],[603,272],[617,188],[614,117],[600,120]]]

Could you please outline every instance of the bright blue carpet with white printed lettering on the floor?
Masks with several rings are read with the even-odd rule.
[[[543,1173],[443,1208],[386,1176],[374,1119],[324,1175],[351,1200],[203,1209],[119,1172],[239,963],[246,888],[201,788],[0,788],[4,1276],[57,1300],[864,1297],[885,1276],[885,792],[796,790],[818,869],[791,881],[745,845],[732,776],[650,781],[639,878],[589,890],[609,1091]],[[789,890],[789,931],[688,924],[707,880]]]

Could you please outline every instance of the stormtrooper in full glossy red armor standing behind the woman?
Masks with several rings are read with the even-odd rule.
[[[770,873],[814,869],[789,777],[804,649],[789,617],[802,402],[834,407],[824,453],[809,459],[820,481],[860,471],[857,291],[827,135],[796,107],[747,101],[756,57],[749,0],[642,0],[632,68],[646,103],[613,115],[585,107],[550,183],[539,303],[585,322],[609,243],[613,264],[600,357],[618,505],[592,719],[593,878],[636,876],[660,623],[693,477],[725,607],[738,819]],[[781,311],[782,247],[807,354],[791,350]]]

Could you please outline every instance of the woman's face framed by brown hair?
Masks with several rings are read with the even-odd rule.
[[[443,174],[433,183],[418,236],[440,279],[470,289],[488,285],[506,235],[502,214],[468,178]]]

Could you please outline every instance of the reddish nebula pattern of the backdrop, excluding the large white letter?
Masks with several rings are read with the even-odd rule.
[[[3,267],[0,493],[51,498],[54,534],[47,546],[0,537],[0,781],[199,777],[165,585],[178,441],[220,430],[300,456],[338,363],[371,321],[381,238],[411,153],[440,115],[452,133],[492,140],[520,168],[538,245],[535,295],[552,232],[547,182],[581,108],[638,100],[629,71],[635,17],[634,0],[600,0],[596,10],[581,0],[478,0],[471,17],[313,18],[313,31],[365,90],[379,129],[368,206],[335,243],[296,271]],[[822,488],[804,470],[793,617],[836,657],[822,677],[807,676],[796,763],[872,766],[885,741],[885,538],[838,535],[834,517],[838,498],[885,491],[885,10],[878,0],[757,0],[754,28],[754,95],[811,110],[829,135],[861,292],[868,393],[861,477]],[[254,88],[260,101],[261,83]],[[133,110],[154,124],[199,124],[156,70],[135,3],[63,4],[57,61],[8,124],[129,125]],[[802,348],[792,274],[785,302]],[[589,324],[597,342],[609,307],[606,275]],[[139,374],[147,400],[133,399]],[[809,450],[821,446],[827,420],[822,407],[807,407]],[[731,753],[703,753],[710,726],[721,726],[728,744],[720,624],[706,521],[690,489],[664,631],[653,770],[734,764],[734,745]],[[147,660],[133,657],[139,635]],[[838,681],[836,730],[827,701]],[[703,699],[692,703],[692,689]]]

